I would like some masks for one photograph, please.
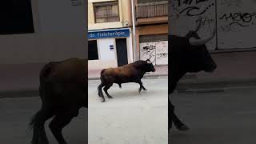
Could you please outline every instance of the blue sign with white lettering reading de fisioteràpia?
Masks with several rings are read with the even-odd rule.
[[[88,39],[129,37],[129,29],[89,31]]]

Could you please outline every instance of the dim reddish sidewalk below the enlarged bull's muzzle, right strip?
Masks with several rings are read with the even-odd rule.
[[[212,54],[214,73],[186,74],[178,89],[256,85],[256,51]]]

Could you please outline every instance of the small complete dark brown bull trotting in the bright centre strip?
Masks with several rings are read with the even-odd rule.
[[[141,90],[146,90],[146,88],[142,85],[142,78],[146,72],[154,72],[154,66],[152,62],[150,62],[149,59],[146,61],[136,61],[130,64],[127,64],[125,66],[120,66],[117,68],[109,68],[109,69],[103,69],[101,71],[101,84],[98,86],[98,96],[102,98],[102,102],[105,102],[104,95],[102,93],[102,87],[103,90],[106,93],[106,96],[108,98],[113,98],[110,96],[110,94],[107,92],[107,90],[110,89],[111,86],[113,86],[113,83],[117,83],[119,87],[121,88],[122,83],[127,82],[135,82],[140,85],[138,91],[141,92]]]

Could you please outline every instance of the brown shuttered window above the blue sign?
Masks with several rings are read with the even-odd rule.
[[[94,3],[95,23],[119,22],[118,1]]]

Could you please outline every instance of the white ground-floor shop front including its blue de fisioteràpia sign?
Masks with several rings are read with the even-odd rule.
[[[133,61],[130,29],[88,32],[89,70],[123,66]]]

